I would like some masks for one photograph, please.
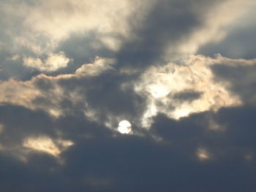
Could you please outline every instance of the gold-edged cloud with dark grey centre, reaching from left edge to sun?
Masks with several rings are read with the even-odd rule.
[[[115,129],[119,118],[127,118],[125,114],[132,117],[138,98],[129,86],[126,91],[121,90],[121,82],[127,77],[116,74],[114,64],[114,59],[95,58],[74,74],[56,77],[39,74],[24,82],[1,82],[3,94],[0,101],[30,110],[44,110],[55,118],[79,111],[87,118],[109,123],[109,127]]]

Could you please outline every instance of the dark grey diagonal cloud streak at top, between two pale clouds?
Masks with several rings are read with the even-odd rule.
[[[131,23],[137,36],[121,47],[116,57],[124,66],[143,68],[161,63],[168,46],[170,54],[180,54],[178,46],[205,25],[205,15],[219,1],[157,1],[143,23]],[[170,55],[169,55],[170,56]]]

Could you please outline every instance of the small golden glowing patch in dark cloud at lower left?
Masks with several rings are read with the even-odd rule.
[[[23,147],[27,147],[31,150],[41,151],[50,155],[58,157],[61,152],[67,149],[74,143],[68,140],[56,140],[54,141],[50,137],[29,137],[24,140]]]

